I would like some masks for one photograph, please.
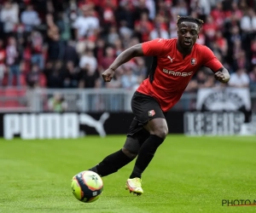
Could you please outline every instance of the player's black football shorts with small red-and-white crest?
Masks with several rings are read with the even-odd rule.
[[[167,112],[163,112],[159,103],[151,96],[135,92],[131,98],[131,110],[135,115],[127,135],[134,135],[143,129],[143,125],[154,118],[166,118]]]

